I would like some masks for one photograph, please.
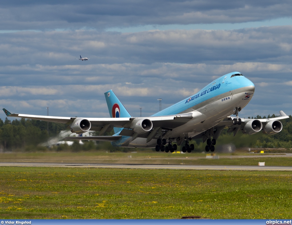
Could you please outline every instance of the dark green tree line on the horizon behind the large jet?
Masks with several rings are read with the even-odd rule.
[[[274,114],[267,117],[255,116],[251,119],[262,119],[276,117]],[[250,118],[250,117],[248,117]],[[262,132],[257,134],[248,135],[242,134],[240,131],[233,137],[233,133],[228,133],[224,129],[222,134],[217,140],[218,145],[232,143],[237,148],[241,147],[261,147],[261,148],[292,148],[292,118],[291,115],[288,119],[281,120],[283,129],[278,134],[267,135]],[[68,129],[67,124],[45,122],[30,119],[15,119],[13,121],[5,121],[0,119],[0,152],[2,151],[23,151],[23,150],[44,150],[45,148],[38,147],[40,143],[47,141],[50,137],[57,136],[60,131]],[[98,135],[98,132],[93,132],[93,135]],[[111,133],[105,135],[112,135]],[[190,143],[195,145],[195,150],[202,151],[205,149],[205,143],[201,139],[192,140]],[[52,150],[98,150],[104,149],[109,151],[133,151],[133,148],[117,148],[111,146],[110,142],[104,141],[83,141],[80,145],[79,141],[74,141],[72,146],[67,144],[58,144],[51,147]],[[180,150],[180,148],[178,148]]]

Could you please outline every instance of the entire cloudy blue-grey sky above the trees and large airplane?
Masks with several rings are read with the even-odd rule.
[[[109,117],[112,89],[132,116],[150,116],[157,99],[166,108],[238,71],[256,86],[240,117],[291,115],[291,11],[290,0],[3,0],[0,105]]]

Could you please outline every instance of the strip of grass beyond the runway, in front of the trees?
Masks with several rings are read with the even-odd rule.
[[[206,159],[205,153],[106,153],[94,152],[44,152],[44,153],[0,153],[0,162],[68,162],[68,163],[136,163],[136,164],[184,164],[184,165],[258,165],[265,162],[266,166],[292,166],[292,157],[274,158],[240,158],[249,153],[219,153],[218,160]],[[265,155],[265,154],[260,154]],[[271,154],[266,154],[271,155]],[[131,158],[128,158],[131,156]]]

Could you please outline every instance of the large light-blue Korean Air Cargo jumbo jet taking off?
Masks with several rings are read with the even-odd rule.
[[[155,113],[150,117],[132,117],[112,90],[105,92],[111,118],[54,117],[12,114],[3,109],[8,117],[21,117],[68,124],[72,133],[100,131],[100,136],[67,137],[66,139],[111,141],[113,146],[155,148],[156,151],[173,152],[182,145],[183,152],[191,152],[191,139],[202,138],[205,150],[213,152],[216,139],[224,128],[235,136],[244,134],[276,134],[282,130],[279,120],[289,118],[283,111],[280,117],[269,119],[239,118],[255,90],[254,84],[239,72],[219,77],[198,93]],[[230,115],[235,115],[232,119]],[[114,129],[113,136],[102,136]],[[175,144],[174,144],[175,143]]]

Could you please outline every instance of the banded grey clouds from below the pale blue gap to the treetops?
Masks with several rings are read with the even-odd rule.
[[[55,116],[108,117],[103,93],[113,89],[133,116],[140,107],[148,116],[158,98],[166,108],[239,71],[256,85],[241,116],[292,114],[291,30],[2,33],[0,104],[15,113],[46,115],[49,106]]]

